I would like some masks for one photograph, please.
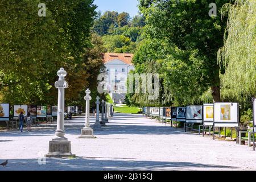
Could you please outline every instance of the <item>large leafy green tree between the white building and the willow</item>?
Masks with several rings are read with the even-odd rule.
[[[226,19],[221,9],[218,16],[208,15],[210,2],[140,1],[146,26],[133,62],[138,73],[159,73],[160,96],[147,101],[135,94],[134,102],[170,106],[221,100],[217,50],[223,46]],[[215,1],[217,7],[227,2]]]

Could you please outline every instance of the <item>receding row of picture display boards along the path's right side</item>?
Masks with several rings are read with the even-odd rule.
[[[254,131],[256,132],[256,99],[253,98]],[[171,121],[203,123],[204,126],[238,127],[238,102],[215,102],[186,107],[143,107],[143,113]]]

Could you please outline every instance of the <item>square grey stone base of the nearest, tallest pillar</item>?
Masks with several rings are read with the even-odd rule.
[[[49,152],[46,158],[75,158],[71,153],[71,141],[49,141]]]

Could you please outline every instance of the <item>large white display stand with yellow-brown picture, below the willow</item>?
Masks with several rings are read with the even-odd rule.
[[[214,103],[213,140],[215,139],[215,127],[239,127],[238,102]]]

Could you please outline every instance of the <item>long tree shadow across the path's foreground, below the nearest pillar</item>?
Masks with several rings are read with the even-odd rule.
[[[46,159],[46,165],[39,165],[38,159],[9,159],[7,167],[0,167],[0,171],[105,171],[105,170],[150,170],[150,171],[170,171],[189,169],[236,169],[232,166],[221,166],[213,164],[189,163],[189,162],[158,162],[158,161],[136,161],[126,158],[114,158],[98,160],[100,158],[79,158],[76,159]],[[117,160],[119,159],[119,160]],[[1,162],[1,160],[0,160]]]

